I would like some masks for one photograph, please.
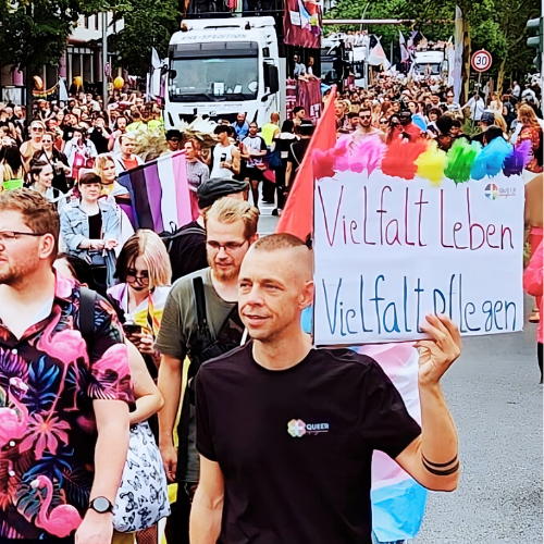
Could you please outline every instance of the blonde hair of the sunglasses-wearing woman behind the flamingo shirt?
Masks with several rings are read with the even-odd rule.
[[[166,247],[160,236],[148,228],[140,228],[125,242],[118,257],[115,277],[126,282],[126,271],[138,257],[147,265],[150,290],[171,284],[172,267]]]

